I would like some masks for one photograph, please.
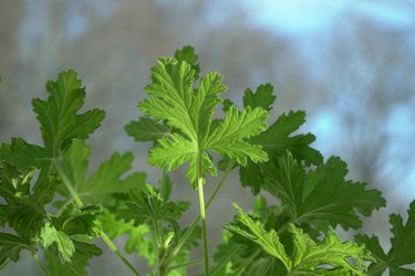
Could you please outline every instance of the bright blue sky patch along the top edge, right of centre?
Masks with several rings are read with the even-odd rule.
[[[357,12],[394,26],[415,23],[415,12],[404,1],[351,0],[245,0],[252,21],[263,28],[288,35],[318,33],[331,26],[331,21],[343,12]],[[412,7],[415,9],[415,4]]]

